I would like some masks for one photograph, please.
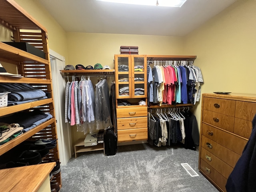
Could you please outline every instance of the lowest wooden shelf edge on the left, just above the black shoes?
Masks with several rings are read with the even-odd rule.
[[[27,140],[28,138],[30,138],[31,136],[36,134],[38,131],[46,128],[48,125],[50,125],[52,123],[54,123],[54,119],[50,119],[50,120],[40,124],[39,126],[36,126],[35,128],[32,128],[31,130],[25,132],[24,134],[16,137],[15,139],[12,139],[12,140],[8,141],[7,143],[1,145],[0,146],[0,155],[4,154],[8,150],[10,150],[13,147],[17,146],[21,142]]]

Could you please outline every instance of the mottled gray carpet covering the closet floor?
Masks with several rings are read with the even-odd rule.
[[[198,151],[180,146],[118,146],[114,156],[84,152],[61,168],[61,192],[218,192],[198,170]]]

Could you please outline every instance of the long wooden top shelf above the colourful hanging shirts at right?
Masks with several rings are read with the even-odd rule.
[[[196,56],[188,55],[147,55],[148,61],[165,61],[165,60],[185,60],[185,61],[194,61]]]

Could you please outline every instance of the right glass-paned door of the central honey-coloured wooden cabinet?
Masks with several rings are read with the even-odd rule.
[[[132,97],[146,97],[146,57],[132,55]]]

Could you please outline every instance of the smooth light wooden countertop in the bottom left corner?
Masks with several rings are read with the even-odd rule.
[[[0,191],[36,192],[50,174],[55,162],[0,170]]]

